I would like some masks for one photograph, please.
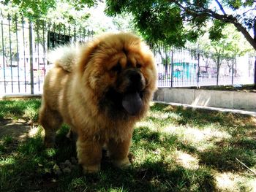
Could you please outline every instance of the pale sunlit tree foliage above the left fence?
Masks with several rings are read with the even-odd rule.
[[[12,18],[23,15],[23,18],[33,23],[43,20],[52,25],[55,23],[56,27],[61,27],[59,24],[79,26],[82,30],[87,28],[96,34],[103,31],[135,31],[131,14],[124,13],[110,18],[104,14],[105,2],[99,0],[5,0],[0,4],[0,9],[5,18],[8,14]]]

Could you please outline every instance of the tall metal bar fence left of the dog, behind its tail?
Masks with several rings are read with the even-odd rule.
[[[32,23],[23,17],[1,17],[0,94],[42,93],[45,73],[50,68],[48,50],[56,45],[86,42],[93,32],[77,26]]]

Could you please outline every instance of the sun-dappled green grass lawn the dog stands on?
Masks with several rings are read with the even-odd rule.
[[[39,100],[0,101],[1,120],[37,120]],[[0,121],[1,121],[0,120]],[[102,171],[69,174],[54,169],[75,156],[58,132],[56,147],[42,145],[42,128],[23,141],[0,135],[0,191],[255,191],[256,119],[246,115],[153,104],[137,123],[129,169],[116,169],[108,158]],[[55,167],[55,168],[54,168]]]

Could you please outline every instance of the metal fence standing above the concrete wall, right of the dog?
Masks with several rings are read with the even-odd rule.
[[[157,61],[158,87],[252,84],[254,57],[225,57],[203,50],[152,46]]]

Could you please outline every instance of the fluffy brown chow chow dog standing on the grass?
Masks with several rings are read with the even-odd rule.
[[[85,172],[100,169],[103,145],[113,164],[128,166],[133,127],[146,114],[156,88],[151,51],[135,35],[120,33],[59,48],[55,55],[39,113],[45,145],[54,144],[64,122],[78,134],[78,161]]]

